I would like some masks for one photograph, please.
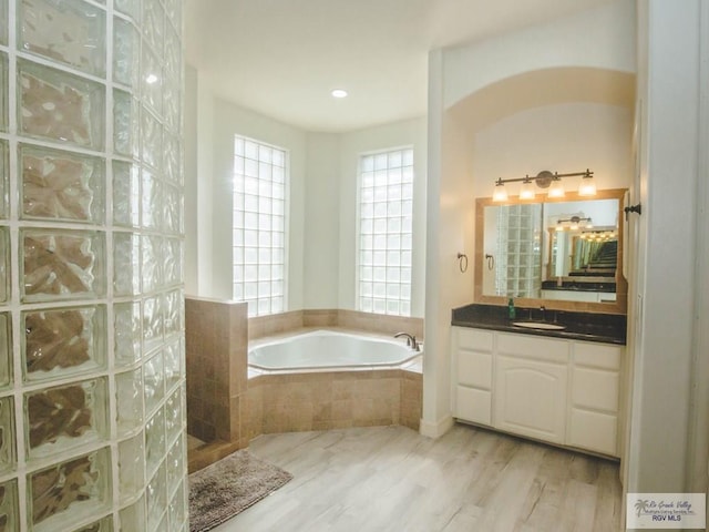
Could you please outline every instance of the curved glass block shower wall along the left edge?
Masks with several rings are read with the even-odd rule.
[[[0,0],[0,530],[187,530],[182,0]]]

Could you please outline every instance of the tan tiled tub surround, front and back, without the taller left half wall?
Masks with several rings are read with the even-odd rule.
[[[288,314],[287,320],[292,320],[296,313]],[[393,336],[391,330],[423,334],[423,320],[420,318],[387,316],[391,319],[382,324],[379,315],[350,310],[304,310],[302,315],[310,327],[251,339],[249,345],[267,344],[276,338],[322,328],[387,338]],[[277,323],[279,317],[273,318]],[[249,329],[253,320],[249,319]],[[376,325],[378,320],[379,325]],[[325,325],[332,323],[360,327]],[[419,430],[423,405],[421,357],[401,367],[386,369],[263,371],[249,368],[248,377],[242,419],[246,419],[249,440],[263,433],[382,424],[402,424]]]

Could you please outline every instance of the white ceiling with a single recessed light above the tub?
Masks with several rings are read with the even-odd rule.
[[[351,131],[425,114],[430,50],[613,1],[186,0],[186,62],[219,99]]]

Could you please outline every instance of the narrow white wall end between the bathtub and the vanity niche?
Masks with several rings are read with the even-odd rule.
[[[443,52],[429,55],[429,105],[441,109]],[[429,183],[425,286],[425,356],[421,432],[438,437],[451,417],[451,310],[473,296],[475,201],[471,180],[471,137],[453,113],[429,113]],[[461,272],[458,254],[467,256]]]

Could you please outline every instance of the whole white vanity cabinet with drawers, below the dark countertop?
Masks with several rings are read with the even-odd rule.
[[[453,417],[618,456],[623,346],[453,327]]]

